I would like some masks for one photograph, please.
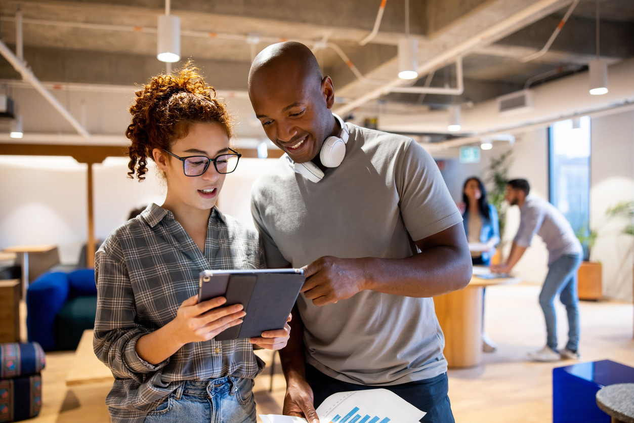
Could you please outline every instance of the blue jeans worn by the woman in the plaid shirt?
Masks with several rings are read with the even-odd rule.
[[[147,414],[145,423],[254,423],[253,384],[253,379],[232,376],[186,381]]]

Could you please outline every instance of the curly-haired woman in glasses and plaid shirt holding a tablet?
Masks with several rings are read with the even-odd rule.
[[[129,177],[143,180],[153,160],[167,195],[115,229],[95,257],[93,345],[115,376],[112,421],[255,422],[252,387],[264,365],[253,350],[283,348],[290,327],[214,341],[245,312],[224,297],[197,297],[202,270],[264,267],[257,231],[216,208],[240,159],[229,147],[231,117],[189,63],[153,77],[130,113]]]

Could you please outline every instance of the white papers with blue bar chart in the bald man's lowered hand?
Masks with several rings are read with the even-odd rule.
[[[332,394],[316,411],[320,423],[417,423],[425,415],[387,389]],[[264,423],[306,423],[301,417],[285,415],[261,414],[260,418]]]

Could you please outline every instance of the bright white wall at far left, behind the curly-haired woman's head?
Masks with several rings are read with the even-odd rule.
[[[0,156],[0,249],[55,244],[75,264],[87,240],[86,164],[72,157]],[[164,200],[155,171],[142,183],[126,178],[127,160],[94,165],[95,236],[104,239],[134,207]]]

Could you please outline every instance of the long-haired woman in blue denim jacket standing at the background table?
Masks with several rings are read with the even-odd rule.
[[[486,188],[482,181],[472,176],[465,181],[462,188],[462,200],[465,212],[462,223],[467,233],[471,261],[474,266],[488,266],[491,257],[495,256],[495,246],[500,242],[500,226],[498,225],[498,211],[486,198]],[[484,292],[482,289],[482,351],[493,353],[496,345],[484,333]]]

